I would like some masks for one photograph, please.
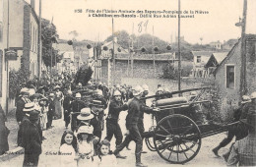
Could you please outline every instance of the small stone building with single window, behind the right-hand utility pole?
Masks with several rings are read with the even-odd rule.
[[[256,90],[256,35],[246,35],[246,94]],[[231,117],[240,100],[241,39],[232,47],[215,70],[215,84],[219,96],[218,109],[222,118]]]

